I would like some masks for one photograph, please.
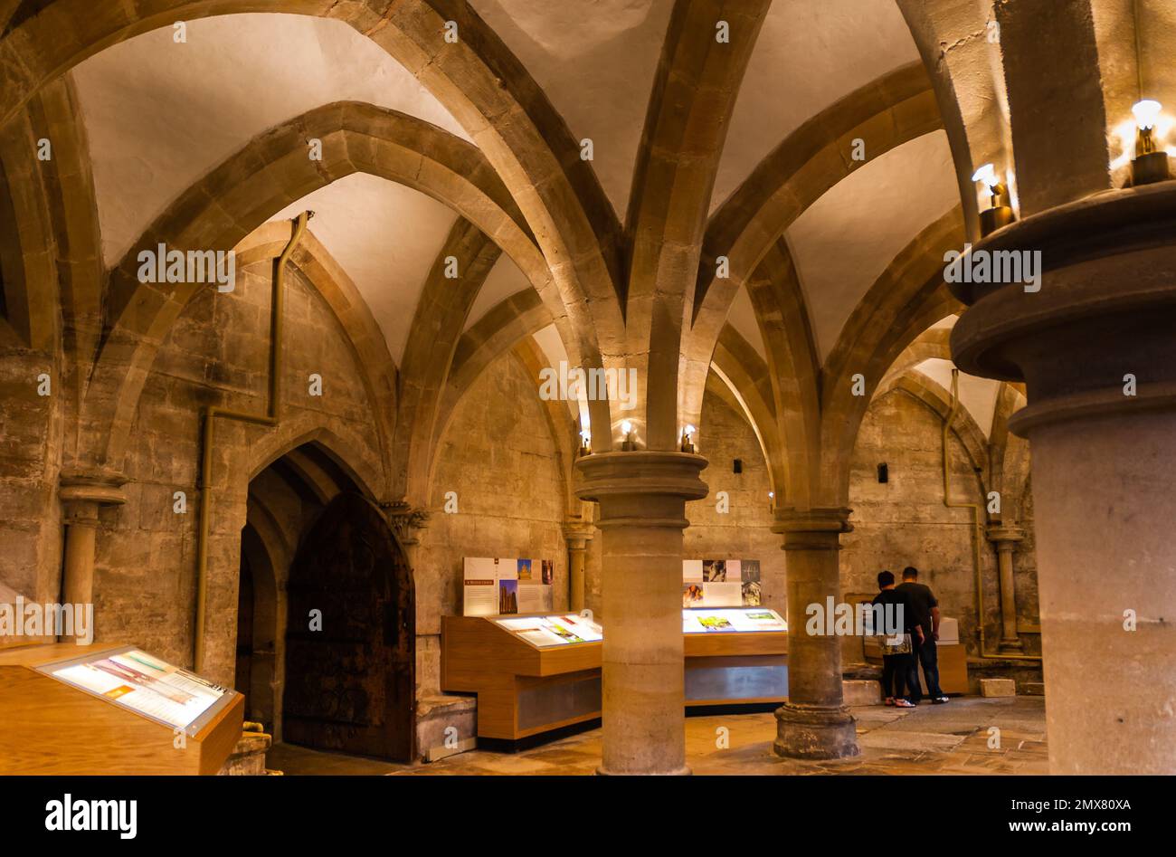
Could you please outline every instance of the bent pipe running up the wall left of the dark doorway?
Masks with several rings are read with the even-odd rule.
[[[213,450],[216,441],[216,419],[232,419],[238,423],[248,423],[268,428],[278,426],[281,420],[286,263],[294,254],[295,247],[298,247],[299,241],[302,240],[302,235],[306,232],[306,224],[313,217],[313,211],[305,211],[293,220],[294,233],[278,258],[274,271],[274,287],[270,298],[269,315],[269,396],[266,412],[263,414],[245,413],[215,405],[206,407],[203,412],[200,453],[200,530],[196,536],[196,614],[192,645],[192,669],[198,673],[203,669],[205,660],[205,620],[208,599],[208,526],[212,519]]]

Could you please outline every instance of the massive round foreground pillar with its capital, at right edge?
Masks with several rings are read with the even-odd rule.
[[[1024,380],[1053,773],[1176,773],[1176,186],[1036,214],[1040,291],[954,284],[964,372]],[[995,257],[994,257],[995,258]]]

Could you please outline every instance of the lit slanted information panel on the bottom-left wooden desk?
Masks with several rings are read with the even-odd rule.
[[[42,664],[36,670],[189,736],[195,736],[235,696],[228,687],[134,646]]]

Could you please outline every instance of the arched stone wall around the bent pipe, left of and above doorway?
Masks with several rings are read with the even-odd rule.
[[[176,320],[143,386],[126,460],[127,504],[103,509],[95,560],[95,625],[101,640],[135,643],[192,663],[199,524],[200,417],[222,405],[265,413],[272,288],[269,261],[239,271],[236,290],[201,291]],[[346,332],[301,273],[287,277],[282,419],[276,428],[220,419],[213,458],[208,632],[203,672],[232,684],[241,527],[249,479],[316,432],[379,486],[373,401]],[[309,394],[308,377],[323,379]],[[345,447],[345,449],[343,449]],[[373,458],[375,457],[375,458]],[[187,512],[174,511],[185,492]]]

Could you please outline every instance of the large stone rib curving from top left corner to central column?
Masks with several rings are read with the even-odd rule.
[[[414,74],[475,140],[534,231],[559,295],[552,308],[569,357],[601,365],[600,343],[621,353],[615,213],[546,93],[465,0],[394,2],[380,11],[335,0],[161,0],[108,14],[93,14],[92,0],[49,0],[12,21],[0,40],[0,61],[13,69],[0,92],[0,126],[51,79],[105,47],[178,20],[246,12],[341,20]],[[450,20],[461,33],[455,44],[443,39]],[[594,420],[607,424],[608,403],[592,406]]]

